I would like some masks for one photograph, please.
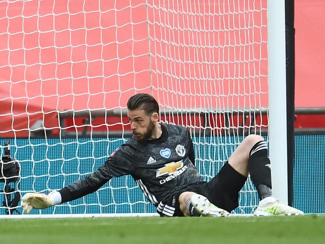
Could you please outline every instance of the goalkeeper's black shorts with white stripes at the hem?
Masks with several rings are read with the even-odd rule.
[[[193,191],[204,195],[217,207],[230,212],[238,206],[238,193],[246,179],[247,177],[238,173],[226,162],[211,181],[186,185],[181,190],[162,200],[157,206],[157,212],[160,216],[183,216],[179,209],[178,197],[185,191]]]

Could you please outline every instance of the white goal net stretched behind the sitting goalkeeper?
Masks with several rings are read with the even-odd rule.
[[[190,130],[204,180],[246,135],[267,140],[266,0],[9,0],[0,10],[0,153],[9,139],[20,163],[19,180],[0,174],[0,203],[98,168],[129,138],[126,101],[139,92],[157,99],[162,122]],[[239,200],[234,213],[257,205],[250,179]],[[154,212],[123,176],[31,214]]]

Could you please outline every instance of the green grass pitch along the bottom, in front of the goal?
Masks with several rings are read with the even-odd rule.
[[[1,243],[325,243],[325,215],[0,219]]]

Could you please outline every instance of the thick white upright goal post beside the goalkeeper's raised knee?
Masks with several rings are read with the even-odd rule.
[[[267,1],[269,158],[272,193],[288,202],[285,66],[285,0]]]

